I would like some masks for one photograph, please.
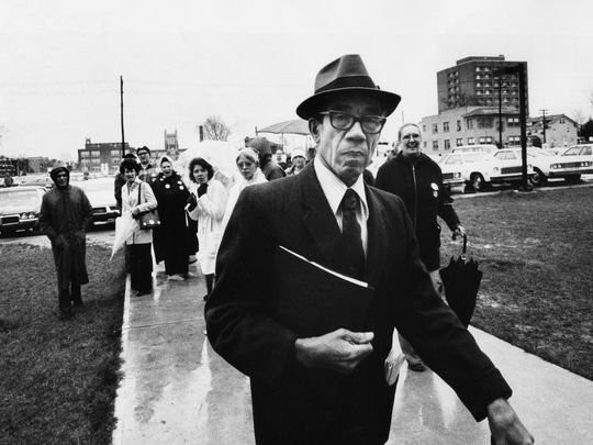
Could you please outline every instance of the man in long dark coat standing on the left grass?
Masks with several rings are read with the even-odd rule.
[[[85,192],[69,185],[70,171],[66,167],[54,168],[49,176],[56,187],[43,197],[40,227],[52,241],[60,319],[68,320],[72,305],[82,305],[80,286],[89,282],[86,231],[92,208]]]

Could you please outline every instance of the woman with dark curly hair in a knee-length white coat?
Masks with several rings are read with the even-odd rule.
[[[204,158],[191,160],[189,177],[192,181],[192,202],[188,210],[190,218],[198,221],[198,260],[206,279],[205,300],[214,286],[216,252],[224,230],[227,193],[222,182],[213,178],[214,168]]]

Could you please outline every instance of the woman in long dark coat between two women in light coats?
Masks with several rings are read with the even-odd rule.
[[[169,279],[181,281],[188,277],[186,204],[190,193],[167,156],[160,159],[160,173],[152,186],[160,218],[160,227],[155,237],[158,246],[155,251],[165,260],[165,271]]]

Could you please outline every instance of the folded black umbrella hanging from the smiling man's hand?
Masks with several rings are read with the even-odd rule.
[[[475,309],[478,289],[482,280],[482,271],[478,270],[478,262],[473,258],[466,260],[468,237],[463,235],[463,251],[461,256],[449,260],[449,265],[439,270],[445,297],[449,308],[457,314],[467,327]]]

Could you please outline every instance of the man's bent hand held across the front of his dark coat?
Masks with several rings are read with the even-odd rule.
[[[298,338],[296,360],[307,368],[327,368],[350,374],[372,353],[370,342],[373,337],[372,332],[339,329],[318,337]]]

